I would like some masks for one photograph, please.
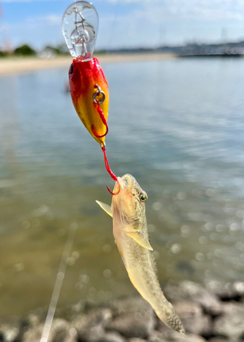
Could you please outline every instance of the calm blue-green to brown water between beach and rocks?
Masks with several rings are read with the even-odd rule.
[[[148,193],[161,282],[244,280],[244,60],[104,66],[107,157]],[[59,308],[135,293],[95,200],[113,187],[64,93],[68,70],[0,79],[0,315],[47,307],[78,225]]]

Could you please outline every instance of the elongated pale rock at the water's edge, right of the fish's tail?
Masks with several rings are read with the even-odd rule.
[[[200,304],[204,311],[210,315],[215,316],[222,313],[221,302],[219,302],[217,295],[206,290],[202,285],[195,284],[195,282],[185,280],[180,282],[178,286],[167,284],[163,292],[172,303],[191,301]]]

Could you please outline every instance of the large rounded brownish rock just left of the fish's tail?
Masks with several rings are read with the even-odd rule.
[[[109,304],[113,309],[113,320],[108,330],[116,330],[126,338],[146,339],[155,325],[155,315],[151,306],[142,298],[127,298]]]

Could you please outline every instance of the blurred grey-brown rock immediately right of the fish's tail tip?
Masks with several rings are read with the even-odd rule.
[[[213,324],[211,317],[204,315],[202,307],[194,302],[178,302],[174,305],[186,332],[211,336]]]

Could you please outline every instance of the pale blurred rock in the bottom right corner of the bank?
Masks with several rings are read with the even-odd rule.
[[[223,315],[214,321],[214,334],[233,340],[241,339],[244,335],[244,304],[226,302],[223,305]]]

